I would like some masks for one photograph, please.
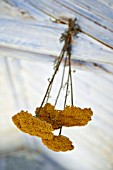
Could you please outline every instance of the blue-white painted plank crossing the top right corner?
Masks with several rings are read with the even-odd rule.
[[[79,15],[84,16],[84,18],[93,21],[95,26],[99,25],[100,27],[113,32],[113,11],[102,3],[99,3],[97,0],[87,0],[85,2],[83,0],[63,0],[62,2],[59,0],[55,1],[69,8],[70,10],[77,12]]]

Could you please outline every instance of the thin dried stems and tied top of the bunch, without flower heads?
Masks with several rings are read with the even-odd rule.
[[[64,45],[63,45],[60,55],[58,56],[58,58],[56,60],[54,73],[52,75],[52,78],[49,80],[49,84],[48,84],[46,93],[45,93],[42,103],[39,107],[38,114],[36,114],[36,117],[38,117],[38,115],[40,114],[40,110],[43,107],[43,104],[45,103],[45,101],[47,103],[49,100],[53,81],[54,81],[54,78],[59,70],[62,60],[64,60],[62,79],[61,79],[60,88],[59,88],[54,106],[56,106],[57,101],[60,96],[60,93],[61,93],[61,90],[63,88],[65,68],[67,65],[68,65],[68,76],[67,76],[67,82],[66,82],[66,87],[65,87],[65,98],[64,98],[64,106],[63,107],[65,108],[65,106],[66,106],[69,87],[70,87],[70,92],[71,92],[71,105],[73,105],[73,84],[72,84],[73,82],[72,82],[72,70],[71,70],[72,41],[73,41],[74,36],[77,36],[77,34],[81,31],[79,25],[76,22],[77,22],[76,18],[74,20],[69,19],[68,20],[68,29],[60,37],[60,42],[64,42]],[[60,128],[59,135],[61,134],[61,130],[62,130],[62,127]]]

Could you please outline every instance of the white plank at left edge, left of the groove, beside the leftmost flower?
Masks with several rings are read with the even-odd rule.
[[[0,154],[21,149],[24,142],[11,117],[18,110],[18,99],[10,82],[6,60],[0,58]]]

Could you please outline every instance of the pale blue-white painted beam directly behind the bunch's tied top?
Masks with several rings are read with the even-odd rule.
[[[58,24],[47,26],[0,18],[0,46],[3,47],[58,56],[63,46],[59,43],[62,32],[64,29]],[[72,58],[113,64],[113,51],[80,33],[73,44]]]

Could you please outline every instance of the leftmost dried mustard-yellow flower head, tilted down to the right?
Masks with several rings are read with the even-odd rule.
[[[21,111],[12,117],[14,124],[23,132],[44,139],[52,139],[52,125],[33,117],[30,113]]]

